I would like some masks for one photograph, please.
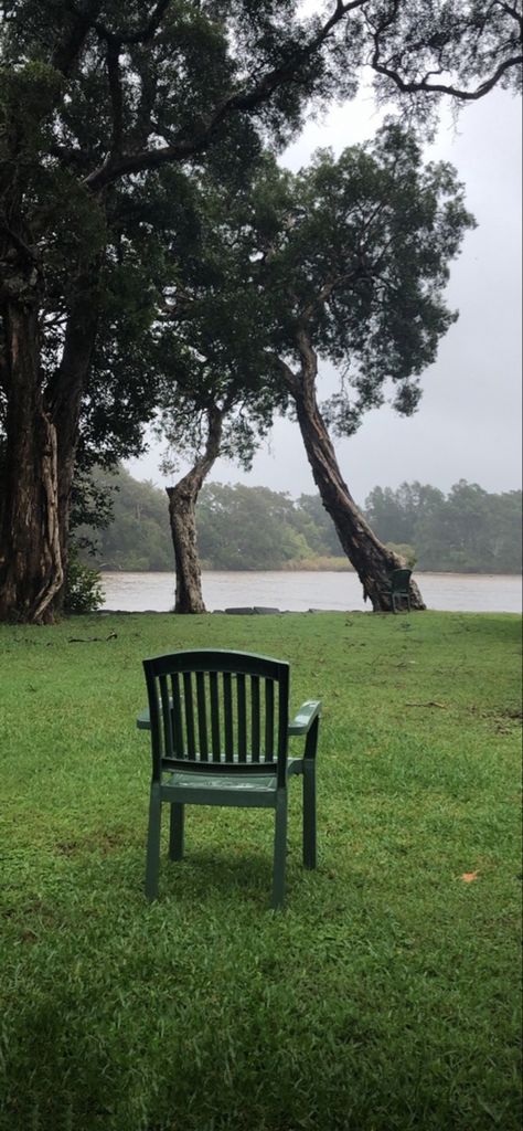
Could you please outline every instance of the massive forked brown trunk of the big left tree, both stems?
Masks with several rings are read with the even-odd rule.
[[[26,287],[3,307],[7,439],[0,621],[50,623],[62,608],[78,421],[96,335],[94,294],[80,278],[62,361],[45,391],[36,287],[32,301]]]

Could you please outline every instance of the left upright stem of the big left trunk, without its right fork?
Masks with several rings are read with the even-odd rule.
[[[5,304],[6,477],[0,620],[45,622],[63,585],[56,430],[42,399],[36,304]]]

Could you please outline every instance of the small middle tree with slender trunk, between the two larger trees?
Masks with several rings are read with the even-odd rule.
[[[160,429],[175,464],[192,459],[171,487],[169,520],[176,569],[176,613],[204,612],[197,545],[197,502],[218,455],[249,468],[285,390],[268,382],[258,295],[249,256],[238,254],[250,181],[224,188],[200,181],[198,247],[181,257],[165,312]],[[235,223],[236,221],[236,223]]]

